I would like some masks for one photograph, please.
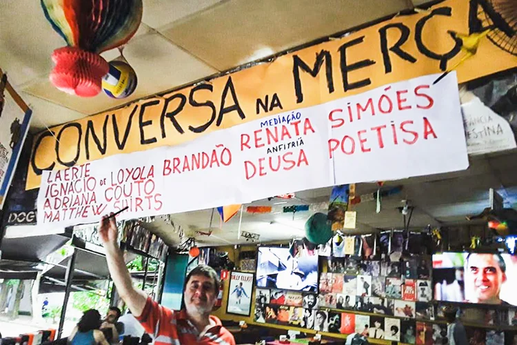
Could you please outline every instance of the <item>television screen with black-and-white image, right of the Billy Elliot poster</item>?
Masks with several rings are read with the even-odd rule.
[[[284,290],[318,289],[318,255],[315,251],[259,247],[256,286]]]

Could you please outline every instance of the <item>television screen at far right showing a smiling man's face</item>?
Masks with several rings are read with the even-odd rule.
[[[433,255],[434,299],[517,306],[517,257],[494,253]]]

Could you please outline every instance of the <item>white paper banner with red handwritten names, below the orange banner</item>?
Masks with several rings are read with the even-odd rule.
[[[244,204],[335,184],[402,179],[468,166],[455,73],[212,132],[188,144],[43,172],[40,226]],[[447,155],[444,154],[447,152]]]

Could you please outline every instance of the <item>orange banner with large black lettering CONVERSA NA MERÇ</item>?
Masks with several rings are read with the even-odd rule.
[[[476,3],[442,1],[428,11],[396,16],[270,63],[55,126],[34,142],[27,188],[39,187],[43,170],[178,145],[247,121],[446,70],[464,54],[461,41],[450,32],[472,32],[476,15],[485,16]],[[515,66],[517,57],[484,39],[476,55],[458,68],[458,81]]]

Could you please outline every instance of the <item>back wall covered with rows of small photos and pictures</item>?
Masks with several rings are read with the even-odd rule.
[[[234,287],[225,282],[223,303],[216,315],[333,337],[357,332],[374,344],[443,344],[447,330],[440,313],[443,302],[434,300],[432,253],[436,248],[432,243],[430,233],[405,235],[403,231],[334,237],[318,248],[295,243],[291,246],[293,257],[318,256],[318,293],[273,285],[256,287],[249,293],[251,316],[246,317],[226,313],[228,288]],[[296,246],[298,249],[293,249]],[[241,269],[239,250],[222,250],[227,250]],[[261,281],[260,266],[259,253],[257,282]],[[509,304],[457,305],[473,344],[514,344],[517,316]]]

